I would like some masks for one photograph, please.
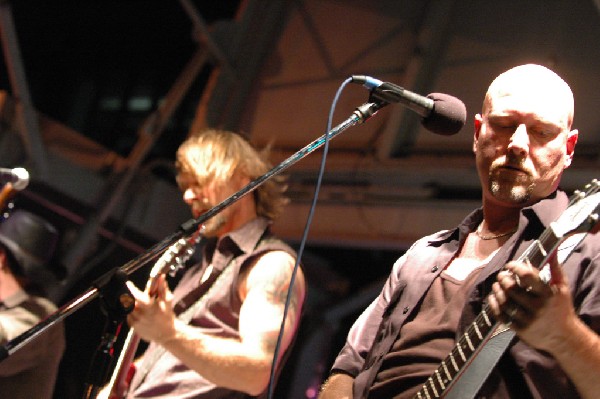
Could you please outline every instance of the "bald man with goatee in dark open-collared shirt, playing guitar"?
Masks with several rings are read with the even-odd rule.
[[[511,261],[568,207],[558,186],[577,143],[573,115],[569,85],[543,66],[520,65],[491,83],[474,121],[482,206],[394,264],[351,328],[320,399],[440,397],[477,349],[479,326],[473,336],[465,331],[484,304],[485,323],[499,322],[499,336],[516,338],[478,397],[597,397],[597,235],[563,243],[542,273],[533,266],[545,265]]]

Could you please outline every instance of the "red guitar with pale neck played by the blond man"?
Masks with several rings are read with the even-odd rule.
[[[156,292],[156,282],[158,277],[169,273],[174,275],[179,269],[184,267],[193,255],[195,246],[200,242],[201,227],[195,234],[189,238],[180,238],[177,242],[171,245],[156,261],[146,282],[146,289],[152,295]],[[140,337],[129,329],[127,337],[123,343],[123,348],[115,364],[115,369],[108,382],[107,389],[109,390],[108,399],[122,399],[127,394],[129,383],[135,374],[133,359],[140,343]]]

